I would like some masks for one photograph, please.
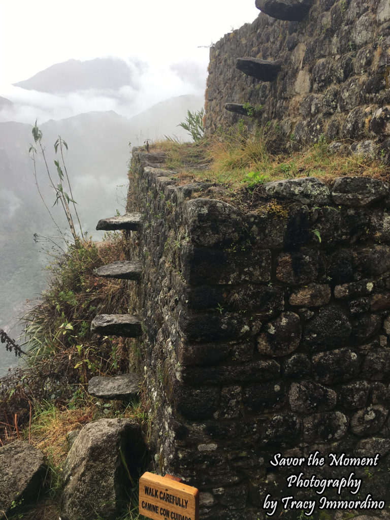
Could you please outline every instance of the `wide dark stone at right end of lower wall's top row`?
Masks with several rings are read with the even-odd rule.
[[[388,184],[381,180],[368,177],[340,177],[333,185],[332,198],[336,204],[367,206],[383,200],[389,191]]]

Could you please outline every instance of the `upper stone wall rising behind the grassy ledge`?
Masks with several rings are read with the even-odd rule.
[[[236,69],[244,57],[279,61],[277,79],[265,82]],[[254,131],[271,121],[293,148],[324,136],[337,143],[335,150],[348,146],[389,161],[389,72],[388,0],[317,0],[301,21],[261,12],[210,50],[206,128],[243,119]],[[251,107],[251,117],[225,110],[226,103]]]

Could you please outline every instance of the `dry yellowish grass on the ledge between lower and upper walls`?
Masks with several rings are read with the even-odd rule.
[[[217,134],[201,144],[160,141],[151,151],[166,153],[166,166],[175,170],[180,184],[209,181],[239,190],[250,172],[259,172],[264,181],[308,176],[326,184],[342,176],[390,180],[388,165],[370,157],[332,153],[324,140],[300,151],[271,154],[268,150],[275,149],[275,142],[275,135],[264,132],[255,136],[236,132]]]

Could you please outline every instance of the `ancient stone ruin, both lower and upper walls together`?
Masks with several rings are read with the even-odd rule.
[[[244,116],[291,148],[388,161],[388,1],[256,6],[211,49],[207,131]],[[128,214],[98,225],[134,230],[129,270],[97,274],[132,273],[137,316],[93,322],[135,337],[155,470],[200,489],[202,520],[333,518],[332,500],[374,518],[390,498],[389,185],[276,181],[245,213],[164,160],[133,149]]]

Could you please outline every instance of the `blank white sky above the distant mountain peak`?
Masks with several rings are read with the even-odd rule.
[[[0,96],[70,58],[139,57],[155,67],[208,62],[210,45],[252,22],[254,0],[3,0]],[[2,92],[3,91],[3,92]]]

